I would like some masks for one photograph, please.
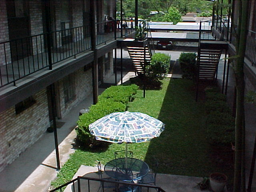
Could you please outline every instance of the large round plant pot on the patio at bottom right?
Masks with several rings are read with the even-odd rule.
[[[210,186],[214,192],[223,192],[228,177],[222,173],[210,174]]]

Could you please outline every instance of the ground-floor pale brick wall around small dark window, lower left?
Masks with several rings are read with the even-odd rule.
[[[20,114],[15,106],[0,113],[0,171],[34,144],[49,126],[46,89],[36,93],[36,103]]]

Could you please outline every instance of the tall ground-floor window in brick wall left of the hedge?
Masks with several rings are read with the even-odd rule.
[[[63,78],[64,102],[65,104],[75,98],[74,77],[70,74]]]

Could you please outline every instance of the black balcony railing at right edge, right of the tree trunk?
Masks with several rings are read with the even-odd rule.
[[[256,32],[248,30],[246,39],[245,56],[252,62],[252,65],[256,64]]]

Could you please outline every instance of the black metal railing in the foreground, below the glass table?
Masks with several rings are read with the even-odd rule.
[[[82,176],[78,176],[76,179],[70,182],[67,182],[66,184],[63,184],[62,186],[59,186],[51,190],[50,192],[63,192],[68,185],[72,185],[71,186],[72,192],[90,192],[90,191],[93,191],[92,189],[95,187],[98,189],[99,187],[102,187],[102,192],[104,192],[104,184],[106,183],[112,183],[113,185],[116,186],[116,188],[120,186],[127,186],[131,192],[138,191],[136,190],[138,188],[140,188],[140,191],[149,191],[150,189],[153,189],[153,190],[156,190],[157,192],[165,192],[162,188],[157,186],[152,186],[152,185],[110,181],[110,180],[82,177]]]

